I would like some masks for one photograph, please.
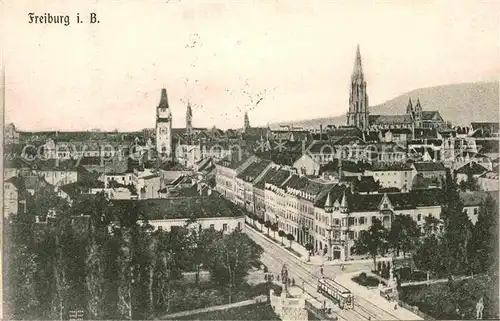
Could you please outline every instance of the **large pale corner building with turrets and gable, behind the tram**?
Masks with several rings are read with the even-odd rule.
[[[315,207],[315,249],[328,258],[347,260],[359,233],[374,219],[391,227],[395,215],[409,215],[423,228],[426,216],[440,219],[441,190],[408,193],[357,194],[338,185],[318,200]]]

